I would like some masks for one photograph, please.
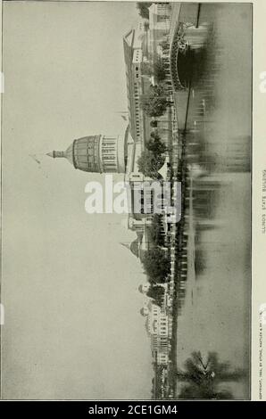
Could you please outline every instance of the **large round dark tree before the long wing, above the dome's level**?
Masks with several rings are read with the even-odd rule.
[[[150,86],[147,94],[140,96],[140,106],[148,117],[160,117],[170,106],[167,93],[162,85]]]

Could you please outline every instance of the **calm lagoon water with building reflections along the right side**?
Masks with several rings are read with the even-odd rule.
[[[186,6],[180,14],[189,21]],[[250,362],[250,5],[202,4],[199,29],[197,42],[187,30],[191,83],[176,98],[189,101],[183,119],[178,109],[187,205],[179,243],[179,251],[185,249],[179,269],[185,267],[186,275],[179,283],[177,359],[182,366],[193,351],[203,357],[218,351],[244,368]],[[230,382],[228,391],[247,398],[248,379]]]

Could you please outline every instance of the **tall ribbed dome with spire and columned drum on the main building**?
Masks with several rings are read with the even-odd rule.
[[[125,173],[127,132],[125,136],[84,136],[73,141],[64,152],[48,152],[53,158],[64,158],[74,168],[96,173]]]

